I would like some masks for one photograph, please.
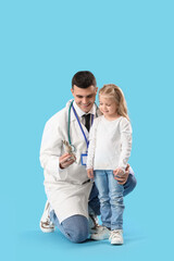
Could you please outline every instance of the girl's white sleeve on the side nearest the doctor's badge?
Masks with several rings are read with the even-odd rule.
[[[96,121],[94,122],[90,132],[89,132],[89,147],[88,147],[88,157],[86,169],[94,169],[94,160],[95,160],[95,148],[96,148]]]

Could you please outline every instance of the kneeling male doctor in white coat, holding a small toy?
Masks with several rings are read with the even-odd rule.
[[[74,101],[69,101],[46,123],[40,148],[48,197],[40,228],[53,232],[58,226],[73,243],[85,241],[94,232],[103,238],[102,229],[96,223],[96,216],[100,214],[98,190],[88,179],[85,166],[89,128],[94,119],[100,115],[95,104],[97,90],[96,78],[90,72],[74,75],[71,89]],[[69,141],[76,159],[65,152],[63,140]],[[130,192],[136,186],[133,170],[127,167],[117,182],[124,186],[124,195]]]

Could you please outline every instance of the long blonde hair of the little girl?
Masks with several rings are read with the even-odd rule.
[[[100,95],[105,96],[105,98],[113,98],[117,105],[117,114],[129,121],[126,100],[120,87],[114,84],[103,85],[103,87],[99,90],[99,97]]]

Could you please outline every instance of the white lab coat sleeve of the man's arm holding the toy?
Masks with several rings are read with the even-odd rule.
[[[47,122],[40,147],[40,164],[51,175],[59,176],[59,157],[61,156],[62,138],[58,124]],[[62,170],[63,171],[63,170]]]

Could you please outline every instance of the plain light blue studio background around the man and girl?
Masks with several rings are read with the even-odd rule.
[[[173,1],[0,1],[2,260],[169,260],[173,256]],[[119,85],[134,129],[138,181],[122,247],[42,234],[39,148],[46,121],[91,71]]]

